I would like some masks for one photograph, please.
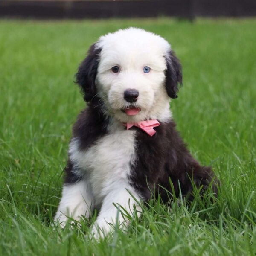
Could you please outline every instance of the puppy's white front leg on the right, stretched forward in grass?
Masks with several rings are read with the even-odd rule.
[[[133,196],[131,196],[130,193]],[[128,224],[127,218],[122,215],[122,212],[124,212],[122,207],[131,216],[134,216],[135,205],[137,215],[140,215],[141,208],[134,198],[137,201],[140,201],[139,196],[131,187],[119,185],[118,188],[111,190],[111,192],[104,198],[99,215],[93,225],[92,233],[94,237],[99,238],[99,236],[107,235],[111,231],[112,226],[115,226],[116,224]],[[124,214],[127,215],[126,212],[124,212]]]

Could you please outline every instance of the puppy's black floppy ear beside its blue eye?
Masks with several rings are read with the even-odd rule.
[[[166,91],[169,97],[175,99],[178,97],[178,84],[182,85],[182,67],[172,50],[166,56],[166,65]]]

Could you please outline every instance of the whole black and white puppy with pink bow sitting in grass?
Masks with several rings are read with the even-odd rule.
[[[104,35],[90,47],[76,79],[88,104],[73,127],[55,221],[64,226],[70,217],[99,209],[97,236],[116,221],[125,223],[115,205],[133,215],[140,211],[137,201],[148,201],[153,191],[168,202],[169,178],[177,196],[179,186],[184,196],[192,182],[209,186],[210,167],[186,149],[169,110],[182,71],[165,39],[136,28]]]

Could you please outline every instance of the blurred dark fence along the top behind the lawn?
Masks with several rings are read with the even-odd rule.
[[[84,19],[123,17],[253,17],[256,0],[0,0],[0,17]]]

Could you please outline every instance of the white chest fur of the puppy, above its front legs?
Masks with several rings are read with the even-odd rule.
[[[76,175],[86,178],[96,207],[110,189],[128,184],[135,158],[135,131],[125,130],[120,123],[111,124],[108,131],[84,151],[79,151],[78,138],[70,143],[70,160],[76,166]]]

